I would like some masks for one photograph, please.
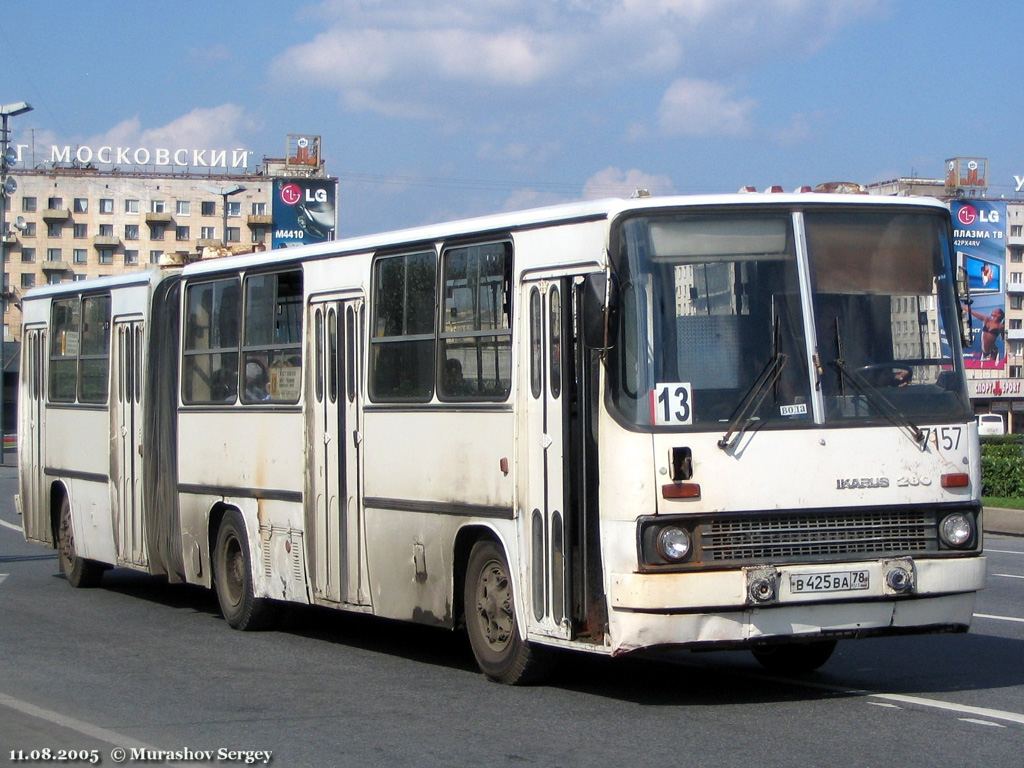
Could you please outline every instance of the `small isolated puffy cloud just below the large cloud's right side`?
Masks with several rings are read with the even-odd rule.
[[[669,86],[658,108],[665,133],[682,136],[742,135],[756,102],[709,80],[681,78]]]

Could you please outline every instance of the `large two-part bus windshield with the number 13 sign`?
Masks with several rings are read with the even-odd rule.
[[[608,381],[628,423],[811,426],[812,393],[826,423],[970,419],[939,215],[658,213],[625,220],[617,244]]]

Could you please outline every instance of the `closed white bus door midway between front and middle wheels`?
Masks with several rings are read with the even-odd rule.
[[[324,600],[365,605],[369,597],[359,484],[362,299],[314,301],[311,321],[313,592]]]

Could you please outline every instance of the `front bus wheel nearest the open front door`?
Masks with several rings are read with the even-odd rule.
[[[548,672],[546,649],[526,642],[516,621],[508,560],[493,541],[473,545],[463,593],[466,632],[480,671],[506,685],[539,682]]]

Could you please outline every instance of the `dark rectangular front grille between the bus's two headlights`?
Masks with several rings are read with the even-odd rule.
[[[706,565],[766,560],[824,561],[937,552],[929,509],[722,517],[699,526]]]

